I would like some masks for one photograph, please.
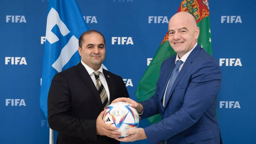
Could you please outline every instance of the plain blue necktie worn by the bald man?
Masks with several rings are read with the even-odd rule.
[[[180,69],[180,66],[181,66],[182,63],[183,62],[181,60],[178,60],[176,62],[176,65],[175,65],[174,70],[172,72],[172,75],[170,77],[170,81],[169,81],[169,84],[167,86],[167,90],[166,90],[166,94],[165,94],[165,106],[166,106],[168,98],[170,97],[170,92],[171,92],[172,85],[174,84],[174,81],[177,78],[177,75],[179,73],[179,69]]]

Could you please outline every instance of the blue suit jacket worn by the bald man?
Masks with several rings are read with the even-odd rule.
[[[162,63],[155,94],[141,102],[142,118],[158,113],[162,116],[162,121],[144,129],[149,142],[219,144],[216,107],[222,74],[218,63],[197,45],[183,64],[163,107],[162,100],[175,59],[176,55]]]

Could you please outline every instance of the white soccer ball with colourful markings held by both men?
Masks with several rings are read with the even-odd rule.
[[[106,107],[106,113],[103,116],[103,121],[112,126],[117,127],[121,132],[121,137],[127,137],[127,130],[135,129],[139,125],[139,114],[130,103],[115,102]]]

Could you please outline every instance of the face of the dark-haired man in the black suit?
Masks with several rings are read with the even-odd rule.
[[[105,43],[101,34],[92,32],[84,35],[84,43],[78,48],[81,60],[97,71],[105,59]]]

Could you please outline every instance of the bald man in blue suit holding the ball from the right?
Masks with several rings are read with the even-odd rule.
[[[122,142],[148,139],[151,144],[219,144],[216,118],[222,74],[218,63],[197,44],[199,27],[194,17],[179,12],[169,21],[169,43],[177,52],[161,66],[155,94],[146,101],[129,102],[148,118],[160,113],[162,121],[128,130]]]

